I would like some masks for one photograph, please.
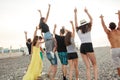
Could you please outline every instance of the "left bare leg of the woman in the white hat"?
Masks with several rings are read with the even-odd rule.
[[[87,75],[87,80],[91,80],[91,77],[90,77],[90,62],[89,62],[89,59],[87,57],[87,55],[85,54],[81,54],[82,56],[82,59],[86,65],[86,75]]]

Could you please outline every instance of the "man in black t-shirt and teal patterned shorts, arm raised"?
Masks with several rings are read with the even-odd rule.
[[[68,59],[67,59],[67,49],[66,49],[66,45],[65,45],[65,29],[64,27],[62,27],[62,29],[60,29],[60,35],[57,35],[56,32],[56,24],[54,25],[54,30],[53,30],[53,34],[55,36],[55,39],[57,41],[57,52],[58,52],[58,57],[61,61],[62,64],[62,72],[63,72],[63,80],[67,80],[66,79],[66,75],[67,75],[67,64],[68,64]]]

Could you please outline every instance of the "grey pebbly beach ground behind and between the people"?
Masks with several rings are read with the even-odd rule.
[[[117,76],[116,70],[113,69],[111,55],[110,55],[110,47],[99,47],[99,48],[94,48],[94,50],[95,50],[95,55],[99,70],[99,80],[120,80],[120,78]],[[81,55],[79,52],[78,55],[79,55],[78,67],[80,73],[79,79],[86,80],[85,65],[81,59]],[[14,55],[9,54],[8,57],[8,54],[4,56],[0,54],[0,80],[22,80],[22,77],[26,72],[29,62],[30,62],[30,56],[28,55],[23,56],[21,54],[18,55],[16,53]],[[44,68],[43,68],[42,77],[44,80],[49,80],[49,78],[47,78],[45,74],[47,73],[50,63],[46,59],[45,54],[44,54],[43,64],[44,64]],[[92,70],[91,73],[93,73]],[[62,80],[62,71],[61,71],[61,64],[59,58],[58,58],[58,70],[55,80]],[[93,75],[92,75],[92,80],[93,80]]]

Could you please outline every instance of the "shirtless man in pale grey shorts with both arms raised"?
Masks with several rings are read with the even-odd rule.
[[[105,25],[103,15],[101,15],[100,18],[103,29],[106,32],[108,40],[111,44],[113,66],[117,69],[118,75],[120,76],[120,10],[116,14],[118,14],[119,19],[118,27],[116,28],[116,24],[111,22],[109,24],[110,30],[107,29],[107,26]]]

